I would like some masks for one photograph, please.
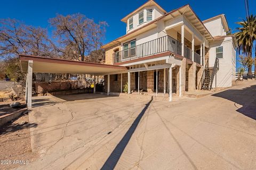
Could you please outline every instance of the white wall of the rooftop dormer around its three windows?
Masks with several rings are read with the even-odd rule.
[[[149,7],[145,7],[142,10],[138,11],[137,13],[135,13],[133,16],[131,16],[130,18],[133,17],[133,28],[129,30],[129,19],[127,21],[127,25],[126,25],[126,33],[129,33],[135,29],[138,29],[140,27],[142,27],[143,25],[147,24],[150,21],[147,21],[147,9],[152,9],[153,13],[152,13],[152,20],[155,20],[157,18],[159,18],[160,16],[162,16],[164,13],[159,10],[159,8],[157,8],[156,6],[149,6]],[[144,22],[139,24],[139,13],[141,13],[143,11],[143,17],[144,17]]]

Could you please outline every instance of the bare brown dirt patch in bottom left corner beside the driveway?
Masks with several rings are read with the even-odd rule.
[[[36,125],[29,124],[25,114],[0,128],[0,169],[17,168],[37,159],[38,154],[31,152],[30,145],[29,128],[33,126]]]

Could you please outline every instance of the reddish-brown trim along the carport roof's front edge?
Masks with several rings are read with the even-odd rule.
[[[82,65],[82,66],[91,66],[91,67],[99,66],[99,67],[103,67],[103,68],[127,70],[127,67],[125,67],[125,66],[100,64],[100,63],[89,63],[89,62],[74,61],[74,60],[64,60],[64,59],[60,59],[60,58],[49,58],[49,57],[42,57],[42,56],[33,56],[33,55],[19,55],[19,59],[20,59],[20,61],[33,60],[35,62],[44,62],[44,63]]]

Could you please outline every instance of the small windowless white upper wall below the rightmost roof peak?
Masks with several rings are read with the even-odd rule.
[[[226,35],[221,18],[206,22],[204,25],[213,37]]]

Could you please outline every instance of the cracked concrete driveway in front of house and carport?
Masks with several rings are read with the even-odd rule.
[[[34,98],[36,162],[21,169],[256,169],[256,84],[168,101]]]

